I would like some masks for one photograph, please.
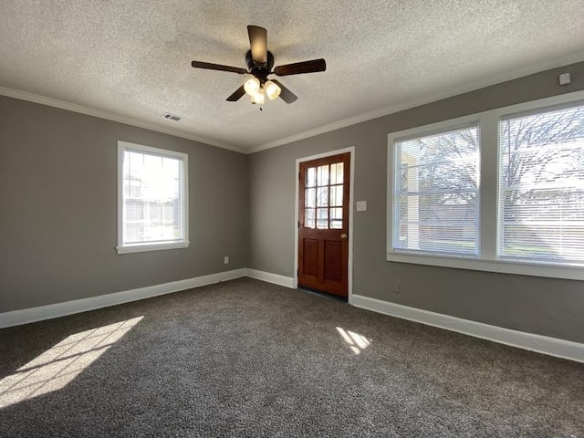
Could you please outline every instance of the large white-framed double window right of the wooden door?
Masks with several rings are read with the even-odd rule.
[[[387,259],[584,280],[582,99],[389,134]]]

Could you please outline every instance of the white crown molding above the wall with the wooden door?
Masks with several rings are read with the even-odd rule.
[[[535,73],[543,72],[552,68],[560,68],[565,67],[570,64],[575,64],[577,62],[584,60],[584,51],[574,52],[569,54],[566,57],[555,58],[553,60],[547,60],[545,62],[537,63],[535,65],[531,65],[526,68],[516,68],[511,71],[507,71],[500,75],[492,76],[488,79],[477,80],[471,83],[467,83],[461,87],[454,87],[448,90],[443,90],[438,93],[433,93],[428,96],[425,96],[422,99],[413,99],[408,100],[406,102],[401,102],[396,105],[391,105],[389,107],[380,108],[378,110],[372,110],[370,112],[366,112],[354,117],[350,117],[349,119],[335,121],[333,123],[328,123],[327,125],[320,126],[313,130],[306,130],[303,132],[299,132],[297,134],[291,135],[289,137],[285,137],[283,139],[278,139],[275,141],[269,141],[267,143],[261,144],[259,146],[255,146],[254,148],[250,148],[249,150],[245,151],[244,153],[255,153],[259,151],[266,151],[267,149],[276,148],[278,146],[284,146],[285,144],[292,143],[294,141],[300,141],[304,139],[308,139],[310,137],[314,137],[319,134],[324,134],[326,132],[330,132],[332,130],[339,130],[341,128],[346,128],[351,125],[356,125],[363,121],[378,119],[383,116],[388,116],[390,114],[394,114],[396,112],[404,111],[404,110],[411,110],[412,108],[420,107],[422,105],[426,105],[428,103],[436,102],[442,99],[452,98],[454,96],[458,96],[460,94],[468,93],[470,91],[474,91],[477,89],[484,89],[486,87],[491,87],[496,84],[500,84],[502,82],[507,82],[509,80],[514,80],[517,78],[523,78],[525,76],[533,75]]]

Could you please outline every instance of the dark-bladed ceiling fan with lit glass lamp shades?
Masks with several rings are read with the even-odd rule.
[[[310,61],[296,62],[284,66],[274,67],[274,55],[267,50],[267,31],[260,26],[247,26],[249,35],[249,44],[251,49],[245,55],[245,68],[223,66],[221,64],[212,64],[210,62],[193,61],[191,65],[194,68],[206,68],[209,70],[220,70],[237,73],[239,75],[249,74],[253,78],[245,81],[245,84],[236,89],[235,92],[227,98],[230,102],[235,102],[244,96],[245,93],[251,96],[252,103],[263,105],[268,99],[277,99],[280,97],[286,103],[292,103],[297,100],[297,95],[284,87],[276,79],[268,79],[269,75],[289,76],[300,75],[303,73],[315,73],[325,71],[327,63],[324,59],[312,59]]]

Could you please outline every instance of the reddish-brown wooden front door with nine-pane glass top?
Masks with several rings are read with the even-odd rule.
[[[350,152],[300,163],[298,287],[347,297]]]

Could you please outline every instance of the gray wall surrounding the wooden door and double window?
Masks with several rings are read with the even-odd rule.
[[[558,86],[569,71],[572,84]],[[295,161],[355,146],[353,293],[493,324],[584,342],[584,282],[386,260],[387,134],[527,100],[584,89],[584,62],[404,110],[250,156],[249,267],[293,276]],[[401,282],[401,295],[391,282]]]

